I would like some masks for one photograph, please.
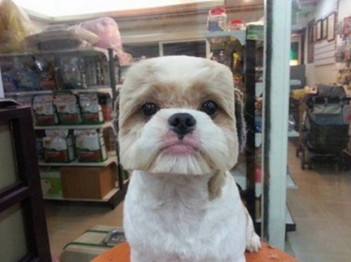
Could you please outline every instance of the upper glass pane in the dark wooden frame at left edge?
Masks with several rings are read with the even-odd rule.
[[[13,185],[18,181],[15,168],[13,138],[9,123],[0,123],[0,190]]]

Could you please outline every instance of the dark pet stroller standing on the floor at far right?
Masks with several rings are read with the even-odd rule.
[[[296,150],[301,169],[312,169],[314,160],[333,160],[336,169],[345,167],[343,150],[349,140],[350,103],[342,86],[319,85],[317,93],[308,95],[307,109],[301,124],[301,144]]]

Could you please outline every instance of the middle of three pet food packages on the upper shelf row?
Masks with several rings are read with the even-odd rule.
[[[55,105],[58,110],[60,124],[79,124],[81,123],[81,114],[77,97],[74,95],[55,96]]]

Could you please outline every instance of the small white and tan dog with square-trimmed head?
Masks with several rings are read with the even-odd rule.
[[[242,262],[245,249],[260,249],[228,171],[241,140],[233,86],[227,67],[204,58],[152,58],[128,71],[119,143],[133,170],[124,202],[131,261]]]

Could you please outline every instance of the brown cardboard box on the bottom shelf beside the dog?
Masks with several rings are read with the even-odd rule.
[[[115,187],[116,165],[62,167],[61,180],[63,197],[102,199]]]

